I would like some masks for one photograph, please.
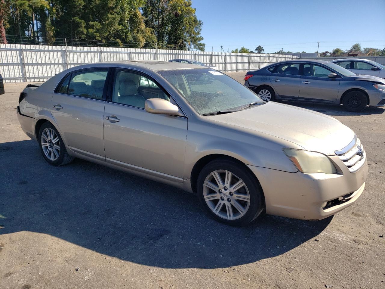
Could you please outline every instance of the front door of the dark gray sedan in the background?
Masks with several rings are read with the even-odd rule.
[[[335,102],[340,88],[339,78],[330,78],[333,72],[324,66],[303,64],[299,99]]]

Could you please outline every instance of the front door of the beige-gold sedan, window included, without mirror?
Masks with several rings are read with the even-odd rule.
[[[114,73],[104,110],[106,161],[182,182],[187,118],[147,113],[146,99],[172,99],[156,82],[144,78],[148,77],[125,70]]]

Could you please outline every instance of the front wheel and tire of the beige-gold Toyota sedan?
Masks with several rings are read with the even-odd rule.
[[[263,193],[250,171],[231,160],[204,166],[197,181],[198,197],[209,214],[228,225],[246,225],[263,212]]]

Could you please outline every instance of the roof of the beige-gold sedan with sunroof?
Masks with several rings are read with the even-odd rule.
[[[126,68],[142,68],[152,71],[164,71],[164,70],[176,70],[176,69],[208,69],[196,64],[178,63],[159,60],[118,60],[118,61],[106,61],[95,62],[80,66],[73,67],[72,70],[85,69],[91,67],[106,66],[106,64],[112,64],[112,66],[126,67]]]

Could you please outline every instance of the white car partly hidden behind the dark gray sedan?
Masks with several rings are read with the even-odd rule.
[[[357,74],[377,76],[385,79],[385,66],[373,60],[360,58],[346,58],[331,60],[330,62],[333,62]]]

